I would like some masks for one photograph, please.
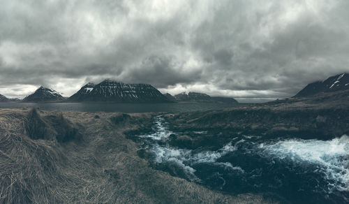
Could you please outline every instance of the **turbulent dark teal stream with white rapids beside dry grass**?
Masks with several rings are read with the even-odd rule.
[[[193,131],[193,134],[207,134]],[[291,203],[349,202],[349,137],[333,140],[266,139],[236,134],[217,148],[170,145],[176,133],[163,117],[135,139],[152,166],[231,194],[272,193]],[[218,133],[221,134],[221,133]]]

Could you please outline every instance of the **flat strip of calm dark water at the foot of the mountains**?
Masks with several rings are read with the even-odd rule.
[[[0,103],[0,108],[40,108],[79,112],[188,112],[232,108],[234,103]]]

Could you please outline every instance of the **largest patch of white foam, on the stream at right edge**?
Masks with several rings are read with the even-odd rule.
[[[293,162],[319,164],[329,182],[329,191],[349,191],[349,137],[332,140],[284,140],[273,144],[260,144],[262,154]]]

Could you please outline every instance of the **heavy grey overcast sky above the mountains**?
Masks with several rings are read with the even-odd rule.
[[[285,98],[349,72],[349,1],[1,1],[0,94],[105,78]]]

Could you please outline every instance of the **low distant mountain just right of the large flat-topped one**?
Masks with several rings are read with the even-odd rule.
[[[176,99],[176,101],[178,102],[238,103],[235,99],[231,97],[209,96],[207,94],[202,94],[198,92],[183,92],[172,97],[174,97],[174,99]]]

